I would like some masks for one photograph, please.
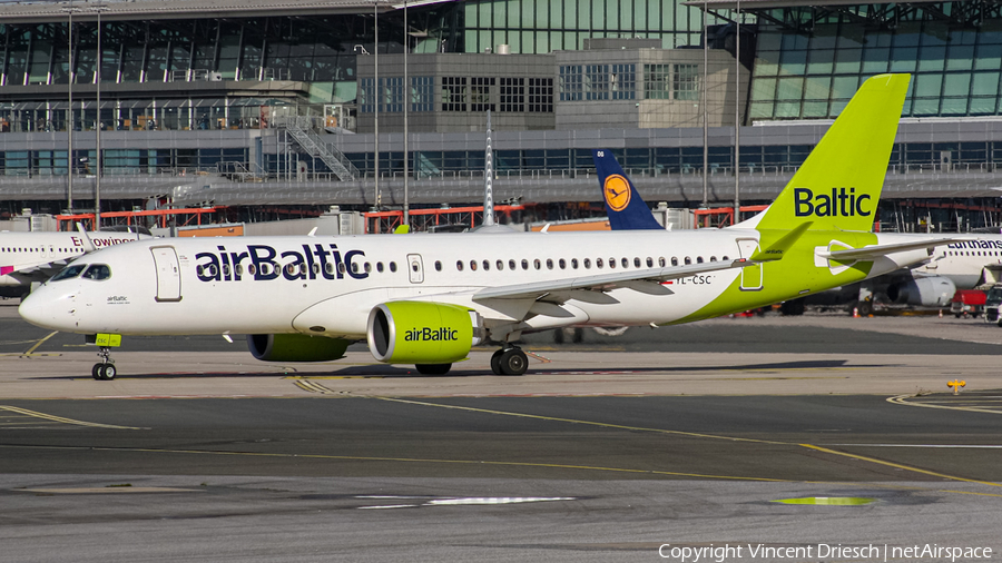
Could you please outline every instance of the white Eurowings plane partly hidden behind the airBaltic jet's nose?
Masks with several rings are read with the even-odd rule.
[[[23,297],[70,260],[136,240],[132,233],[0,233],[0,296]]]

